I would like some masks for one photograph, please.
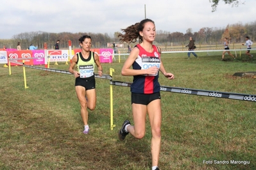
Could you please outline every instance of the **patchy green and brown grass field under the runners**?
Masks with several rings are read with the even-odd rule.
[[[256,94],[255,77],[232,76],[256,71],[256,59],[243,54],[223,62],[221,52],[198,56],[163,54],[175,79],[160,74],[160,84]],[[114,68],[113,80],[132,82],[121,75],[123,62],[103,63],[104,73]],[[50,67],[67,70],[68,65]],[[116,127],[110,130],[109,81],[96,79],[97,106],[89,111],[90,134],[84,135],[73,75],[26,68],[29,88],[24,89],[22,66],[13,66],[9,75],[0,65],[0,79],[0,169],[151,168],[148,121],[143,139],[117,138],[123,121],[133,121],[130,88],[113,86]],[[162,91],[161,96],[160,169],[256,169],[255,102]]]

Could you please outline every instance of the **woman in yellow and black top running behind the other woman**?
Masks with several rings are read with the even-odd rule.
[[[96,107],[96,82],[94,77],[95,64],[98,67],[99,76],[102,76],[102,66],[97,53],[90,51],[92,38],[88,35],[79,38],[81,52],[74,55],[69,66],[69,72],[76,77],[76,95],[81,105],[81,118],[83,119],[83,134],[89,134],[88,111]],[[74,70],[76,65],[77,71]]]

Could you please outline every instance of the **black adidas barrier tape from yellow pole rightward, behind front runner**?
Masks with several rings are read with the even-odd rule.
[[[131,84],[132,84],[131,82],[110,81],[110,85],[115,85],[115,86],[130,87]],[[160,91],[256,102],[256,95],[247,95],[247,94],[239,94],[239,93],[209,91],[204,89],[176,88],[176,87],[168,87],[168,86],[160,86]]]

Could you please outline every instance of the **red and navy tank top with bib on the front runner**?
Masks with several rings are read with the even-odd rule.
[[[133,70],[144,70],[151,66],[160,68],[160,53],[158,52],[157,46],[153,45],[153,52],[146,51],[140,44],[135,47],[139,49],[139,56],[132,64]],[[134,75],[131,92],[140,94],[159,92],[158,73],[156,75]]]

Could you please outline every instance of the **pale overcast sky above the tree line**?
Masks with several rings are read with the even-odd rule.
[[[209,0],[1,0],[0,39],[31,31],[113,36],[144,19],[145,4],[146,17],[155,21],[156,29],[171,33],[256,21],[256,0],[245,0],[233,8],[221,0],[216,12],[212,12]]]

